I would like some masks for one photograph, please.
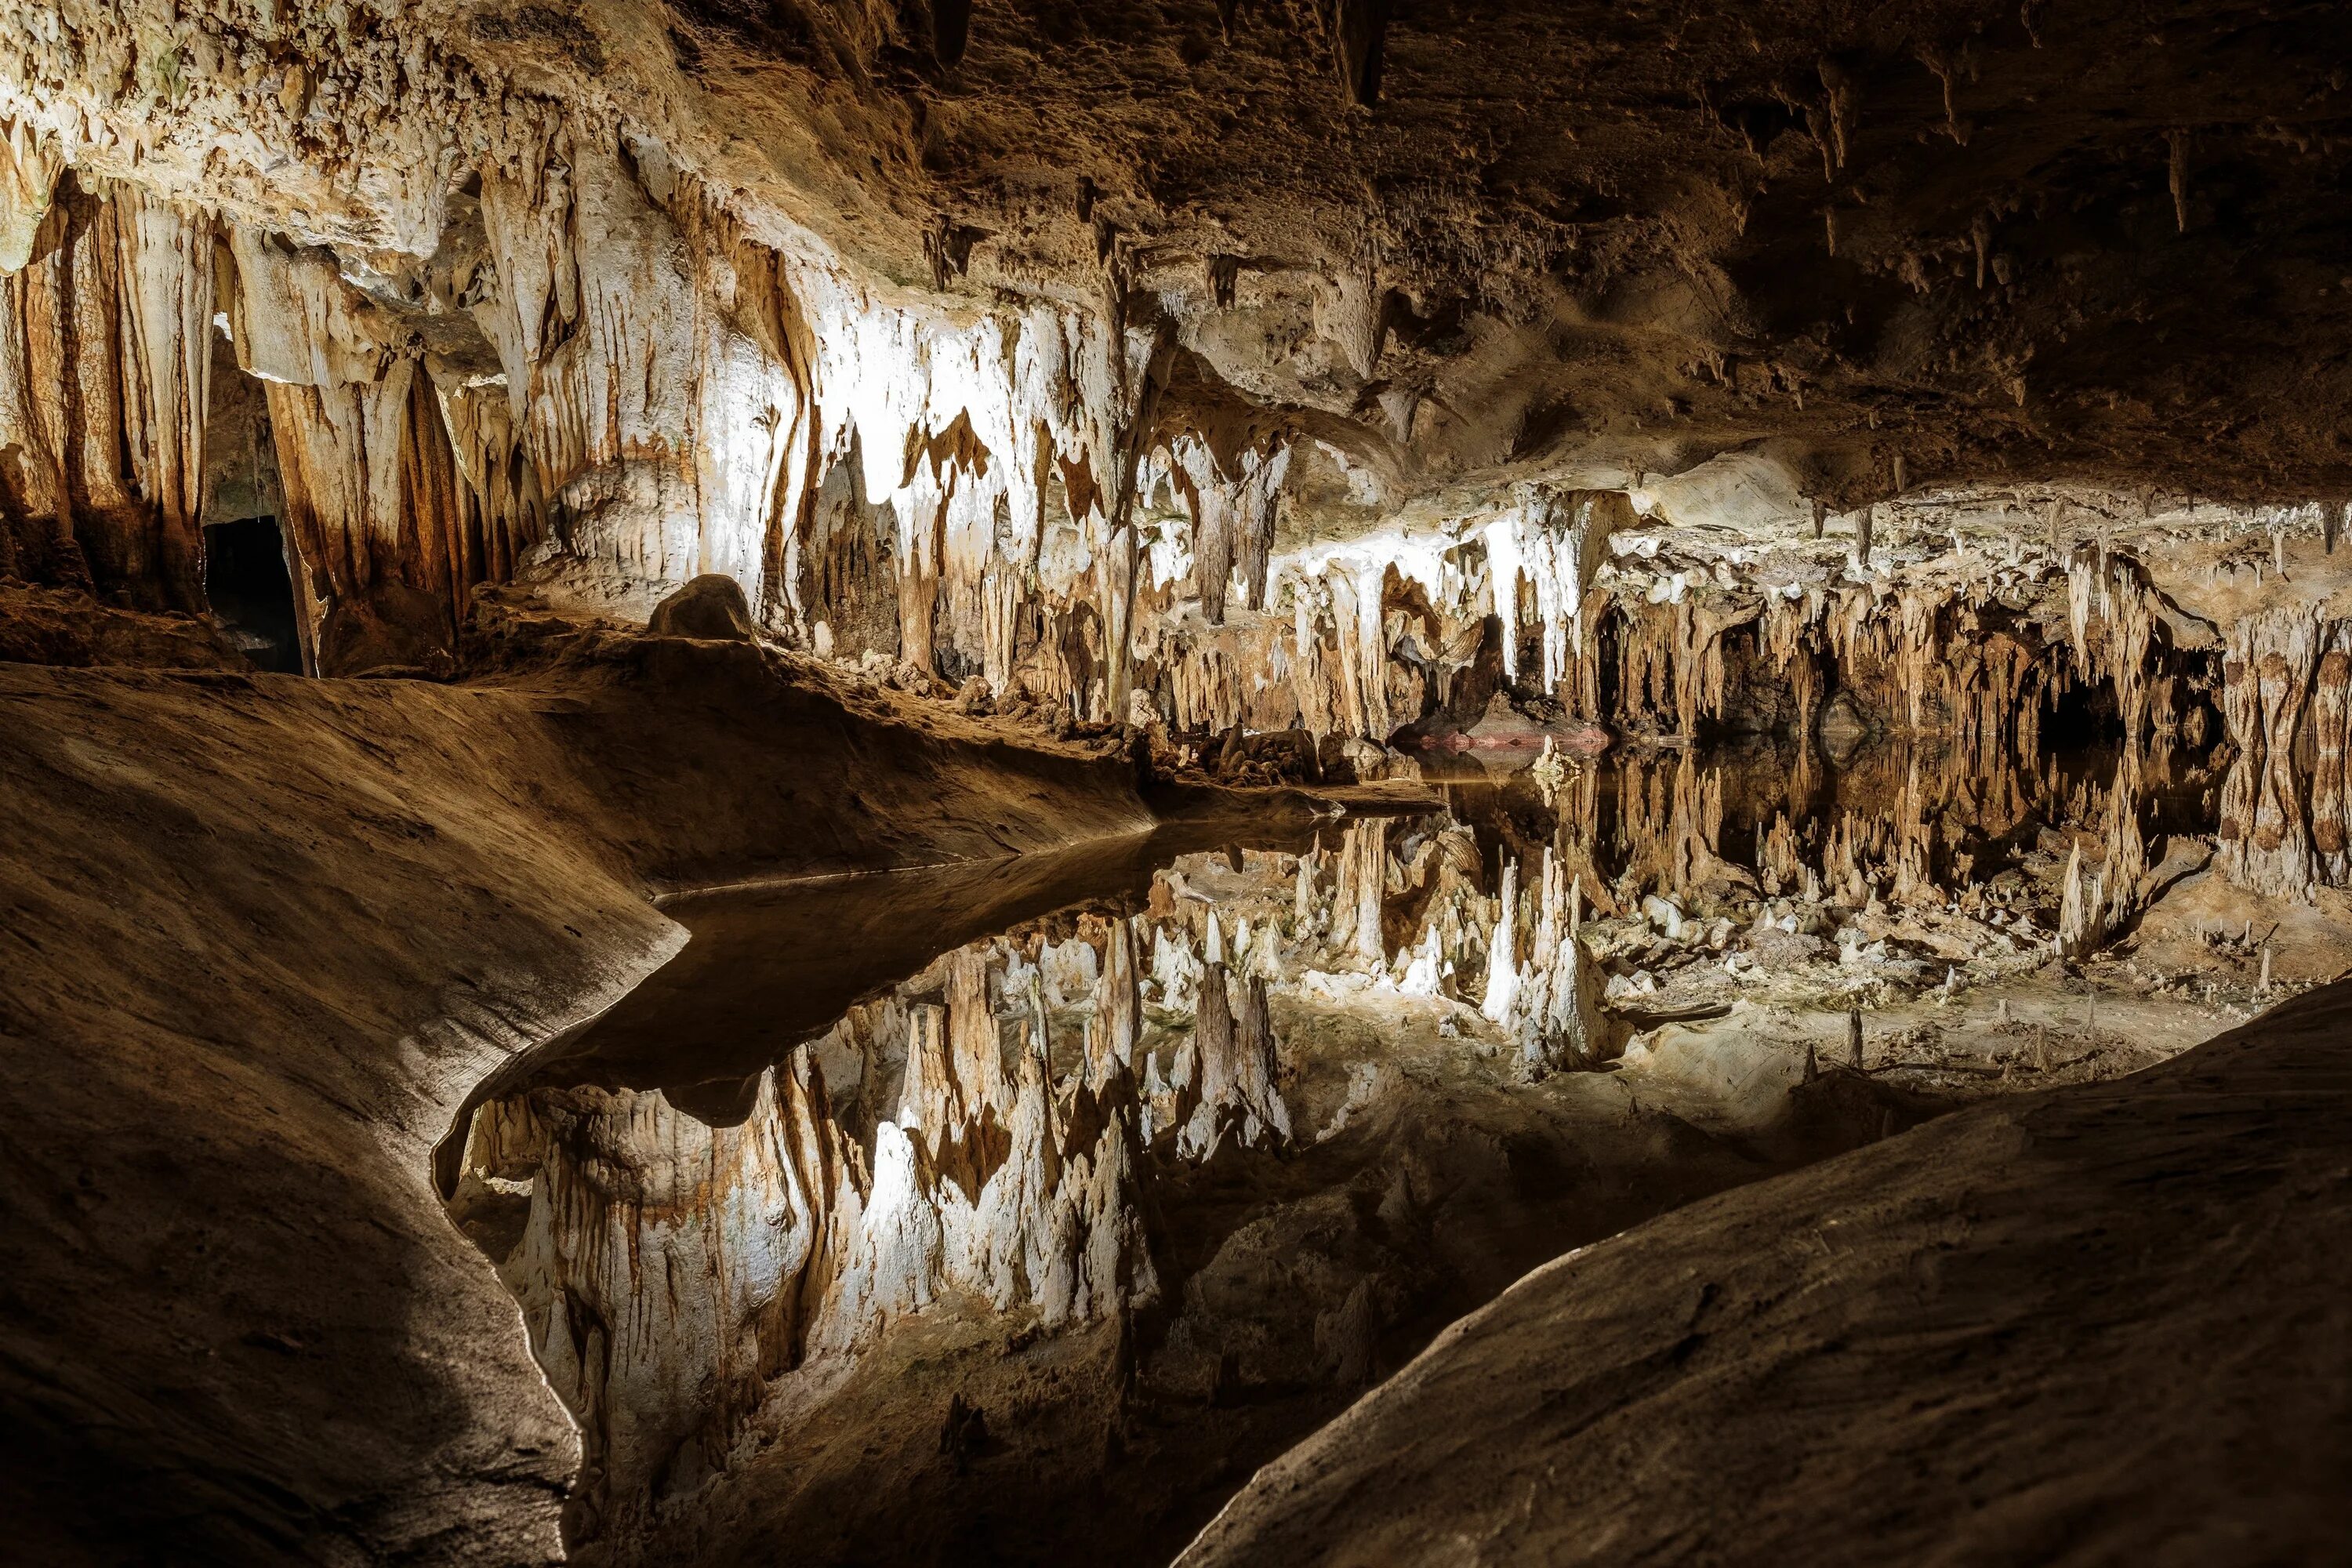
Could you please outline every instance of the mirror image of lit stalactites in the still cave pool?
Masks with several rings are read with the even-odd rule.
[[[1291,1340],[1232,1340],[1268,1309],[1204,1307],[1230,1225],[1188,1208],[1188,1182],[1279,1185],[1329,1147],[1352,1152],[1315,1180],[1345,1185],[1449,1117],[1557,1145],[1534,1168],[1571,1171],[1597,1138],[1578,1100],[1512,1093],[1740,999],[1886,1004],[2079,952],[2185,865],[2164,851],[2211,825],[2218,785],[2178,748],[1997,766],[1757,743],[1439,790],[1402,816],[670,905],[684,952],[485,1084],[442,1150],[452,1213],[586,1434],[572,1537],[642,1540],[757,1413],[814,1408],[941,1312],[1056,1333],[1174,1314],[1143,1375],[1183,1382],[1169,1368],[1207,1356],[1211,1392],[1251,1356],[1277,1385],[1369,1375],[1430,1302],[1463,1305],[1477,1265],[1454,1284],[1425,1260],[1327,1267],[1282,1286],[1303,1291]],[[1428,1093],[1446,1105],[1428,1126],[1388,1107]],[[1738,1178],[1691,1159],[1621,1204]],[[1435,1201],[1416,1180],[1350,1225]],[[1477,1182],[1501,1182],[1479,1213],[1519,1215],[1494,1251],[1515,1267],[1623,1218],[1571,1213],[1557,1175],[1461,1190]],[[1185,1225],[1197,1244],[1171,1239]],[[1343,1251],[1392,1258],[1397,1225]]]

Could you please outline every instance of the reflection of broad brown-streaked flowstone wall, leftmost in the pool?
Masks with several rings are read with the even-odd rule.
[[[661,1093],[541,1091],[489,1103],[468,1180],[529,1213],[499,1265],[532,1352],[583,1436],[595,1509],[715,1467],[767,1380],[800,1363],[861,1234],[866,1180],[809,1053],[760,1074],[736,1126]],[[699,1389],[680,1403],[675,1389]]]

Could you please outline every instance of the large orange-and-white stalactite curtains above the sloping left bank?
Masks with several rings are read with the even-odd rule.
[[[240,369],[268,388],[313,663],[334,663],[339,607],[447,644],[468,590],[510,576],[642,618],[720,571],[774,630],[814,639],[828,607],[800,602],[809,503],[856,463],[896,520],[917,665],[953,649],[1002,691],[1016,607],[1084,604],[1103,679],[1077,705],[1124,701],[1129,334],[1061,306],[953,317],[882,299],[750,240],[656,141],[546,99],[513,96],[485,143],[480,249],[383,287],[334,252],[129,188],[52,205],[59,162],[12,150],[0,174],[40,183],[0,223],[0,421],[28,458],[9,512],[40,520],[31,552],[9,529],[14,567],[71,578],[47,552],[80,541],[85,576],[200,604],[219,308]],[[466,339],[480,348],[442,353]],[[1204,470],[1202,531],[1240,550],[1258,599],[1284,451],[1228,468]]]

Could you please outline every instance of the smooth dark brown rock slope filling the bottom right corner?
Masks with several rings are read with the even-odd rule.
[[[1178,1561],[1411,1561],[1463,1530],[1566,1563],[2326,1556],[2345,1006],[2303,997],[1562,1258]]]

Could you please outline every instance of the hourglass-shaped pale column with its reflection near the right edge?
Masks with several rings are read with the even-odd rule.
[[[2220,867],[2244,889],[2310,898],[2317,882],[2293,771],[2296,726],[2319,663],[2307,609],[2270,609],[2230,628],[2223,722],[2237,762],[2220,792]]]

